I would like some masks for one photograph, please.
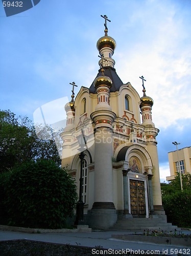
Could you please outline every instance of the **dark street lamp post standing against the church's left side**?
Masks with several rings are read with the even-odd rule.
[[[82,200],[82,185],[83,185],[83,177],[82,177],[82,172],[83,172],[83,162],[84,162],[84,147],[86,146],[87,143],[87,138],[88,136],[84,135],[83,129],[81,130],[82,133],[77,136],[78,143],[80,145],[79,151],[81,152],[79,155],[80,158],[80,188],[79,188],[79,200],[76,205],[76,221],[75,225],[79,224],[79,221],[83,221],[84,219],[84,202]]]

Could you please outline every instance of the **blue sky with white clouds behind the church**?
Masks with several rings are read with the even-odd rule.
[[[152,117],[160,130],[160,179],[170,176],[168,152],[191,146],[191,1],[190,0],[41,0],[6,17],[0,3],[0,109],[17,116],[60,121],[71,85],[89,88],[97,76],[97,40],[116,41],[115,69],[142,96],[153,98]],[[59,105],[60,115],[55,115]],[[46,108],[44,108],[46,106]]]

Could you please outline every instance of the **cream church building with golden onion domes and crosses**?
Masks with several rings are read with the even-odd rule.
[[[102,16],[102,15],[101,15]],[[153,99],[139,96],[130,82],[123,83],[114,68],[115,40],[105,35],[97,42],[99,71],[89,87],[81,87],[65,105],[66,127],[61,134],[62,167],[67,166],[79,193],[82,169],[84,222],[108,229],[117,219],[155,218],[162,208]],[[140,85],[141,86],[141,85]],[[84,135],[86,146],[78,137]],[[83,152],[84,159],[80,160]]]

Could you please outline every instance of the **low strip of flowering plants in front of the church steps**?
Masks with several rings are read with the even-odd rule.
[[[150,236],[150,237],[168,237],[168,238],[185,238],[190,239],[191,234],[184,234],[182,231],[178,231],[175,229],[175,231],[166,231],[166,230],[144,230],[143,233],[144,236]]]

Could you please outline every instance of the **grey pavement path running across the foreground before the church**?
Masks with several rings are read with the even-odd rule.
[[[183,233],[191,233],[190,230],[183,230]],[[122,250],[122,253],[113,254],[124,254],[125,252],[133,252],[135,254],[165,254],[165,255],[190,255],[190,247],[176,246],[176,245],[162,245],[148,242],[132,242],[123,241],[111,238],[112,234],[132,234],[132,231],[92,231],[92,232],[59,232],[59,233],[27,233],[19,231],[8,231],[0,230],[0,241],[7,240],[18,240],[28,239],[34,241],[51,242],[57,244],[69,244],[69,245],[80,245],[88,247],[103,247],[104,249]],[[0,245],[1,246],[1,245]],[[124,253],[123,253],[124,252]],[[97,254],[96,250],[92,251],[92,255]],[[111,253],[110,253],[111,254]]]

